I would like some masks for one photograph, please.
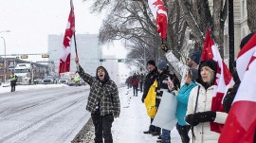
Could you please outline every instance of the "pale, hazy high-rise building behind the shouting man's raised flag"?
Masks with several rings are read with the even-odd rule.
[[[61,51],[63,48],[64,35],[48,35],[48,53],[49,61],[55,63],[55,73],[59,73],[59,64],[61,58]],[[84,71],[90,75],[96,75],[96,68],[101,65],[100,59],[102,57],[102,46],[99,44],[98,34],[76,34],[76,43],[78,49],[78,57],[80,64]],[[76,72],[77,67],[75,63],[75,44],[72,40],[71,44],[71,63],[70,73]]]

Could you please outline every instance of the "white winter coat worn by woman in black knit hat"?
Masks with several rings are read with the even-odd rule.
[[[207,90],[204,86],[198,84],[192,89],[190,94],[189,103],[188,103],[188,110],[186,115],[193,114],[194,106],[197,96],[198,87],[200,87],[199,97],[197,102],[197,112],[205,112],[210,111],[211,108],[211,100],[212,100],[212,93],[213,88],[215,85],[210,86]],[[213,122],[224,124],[226,121],[228,114],[223,112],[217,112],[216,118]],[[195,143],[217,143],[219,135],[218,133],[210,131],[210,122],[199,123],[197,126],[193,127],[193,132],[195,135]],[[191,142],[192,142],[192,131],[189,133]]]

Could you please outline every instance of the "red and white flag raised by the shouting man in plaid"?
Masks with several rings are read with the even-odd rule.
[[[69,72],[70,69],[70,46],[72,36],[75,32],[75,14],[72,0],[70,1],[70,7],[71,9],[68,16],[68,22],[64,32],[64,42],[62,47],[62,57],[60,59],[59,74]]]

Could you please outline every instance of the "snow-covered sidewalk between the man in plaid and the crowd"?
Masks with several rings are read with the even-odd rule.
[[[142,93],[134,97],[133,90],[126,87],[119,91],[121,112],[119,118],[113,123],[114,143],[155,143],[157,136],[143,134],[150,125],[144,104],[141,102]],[[181,143],[177,131],[171,133],[171,142]]]

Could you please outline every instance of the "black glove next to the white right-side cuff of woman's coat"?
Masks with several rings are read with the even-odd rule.
[[[216,112],[213,111],[206,111],[206,112],[199,112],[193,115],[193,119],[195,122],[212,122],[216,117]]]

